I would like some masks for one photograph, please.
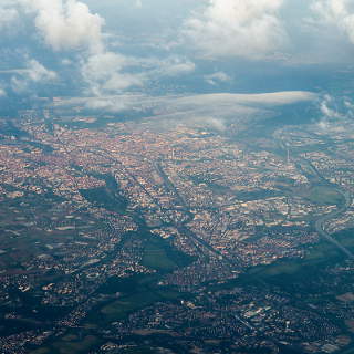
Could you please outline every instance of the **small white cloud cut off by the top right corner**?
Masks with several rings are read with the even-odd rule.
[[[320,24],[336,27],[354,44],[353,1],[314,0],[311,8]]]

